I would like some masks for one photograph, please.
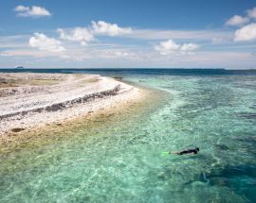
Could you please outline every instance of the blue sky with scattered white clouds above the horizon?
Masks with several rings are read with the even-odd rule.
[[[256,1],[1,0],[15,66],[256,69]]]

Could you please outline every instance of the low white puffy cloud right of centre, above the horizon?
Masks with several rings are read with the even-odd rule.
[[[155,50],[160,53],[160,55],[171,55],[171,54],[189,54],[199,46],[196,43],[183,43],[178,44],[173,40],[168,40],[160,42],[155,45]]]

